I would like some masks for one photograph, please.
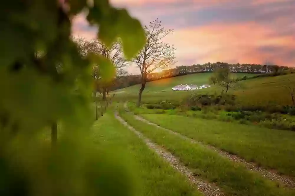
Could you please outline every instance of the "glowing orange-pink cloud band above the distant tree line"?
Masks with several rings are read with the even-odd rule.
[[[190,59],[191,64],[217,61],[262,63],[269,59],[277,64],[291,66],[294,62],[288,62],[283,55],[295,51],[295,38],[275,33],[275,29],[266,28],[255,22],[228,26],[211,24],[176,29],[165,41],[177,48],[177,58]],[[279,50],[275,53],[263,51],[263,46]]]

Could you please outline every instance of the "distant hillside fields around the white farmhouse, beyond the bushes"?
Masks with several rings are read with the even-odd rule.
[[[142,94],[142,102],[171,101],[180,102],[191,93],[219,93],[219,87],[210,87],[194,91],[172,91],[172,87],[181,82],[204,84],[208,83],[211,73],[190,74],[181,77],[163,79],[147,83],[147,88]],[[237,75],[242,77],[245,74]],[[249,75],[248,75],[249,76]],[[293,81],[291,87],[295,87],[295,74],[281,75],[276,77],[260,77],[237,82],[236,87],[229,89],[230,94],[237,95],[237,104],[242,105],[291,105],[291,97],[286,86],[289,80]],[[198,81],[198,82],[197,82]],[[131,86],[121,89],[121,93],[116,94],[118,100],[136,101],[139,86]],[[123,92],[124,91],[124,92]]]

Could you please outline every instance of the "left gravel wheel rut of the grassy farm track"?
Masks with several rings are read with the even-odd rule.
[[[196,178],[193,173],[185,167],[176,157],[174,157],[170,152],[166,151],[162,147],[152,143],[148,138],[144,137],[140,132],[136,131],[133,127],[131,127],[126,121],[124,121],[116,112],[115,117],[122,123],[124,126],[128,127],[131,131],[137,134],[145,144],[152,150],[154,150],[160,157],[165,159],[172,167],[174,167],[179,172],[183,173],[193,185],[195,185],[200,192],[202,192],[205,196],[219,196],[224,195],[220,189],[212,184],[205,182],[199,178]]]

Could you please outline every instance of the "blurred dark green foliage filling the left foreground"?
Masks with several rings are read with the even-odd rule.
[[[82,11],[106,45],[121,39],[127,58],[144,45],[140,22],[108,0],[0,6],[0,195],[134,195],[116,153],[87,142],[91,66],[101,65],[106,79],[113,68],[101,56],[93,61],[79,54],[71,26]],[[39,136],[53,122],[62,132],[51,148]]]

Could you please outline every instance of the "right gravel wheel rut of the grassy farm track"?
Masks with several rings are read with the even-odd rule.
[[[292,180],[290,177],[287,177],[285,175],[281,175],[281,174],[278,174],[278,172],[276,172],[275,170],[266,170],[262,167],[259,167],[257,166],[256,163],[253,163],[253,162],[248,162],[246,161],[245,159],[243,158],[240,158],[236,155],[232,155],[232,154],[229,154],[228,152],[225,152],[225,151],[222,151],[222,150],[219,150],[213,146],[210,146],[210,145],[207,145],[207,144],[204,144],[202,142],[198,142],[194,139],[191,139],[189,137],[186,137],[186,136],[183,136],[179,133],[176,133],[176,132],[173,132],[172,130],[170,129],[166,129],[166,128],[163,128],[163,127],[160,127],[158,126],[157,124],[153,123],[153,122],[150,122],[146,119],[143,119],[142,117],[140,116],[137,116],[135,115],[135,118],[138,119],[138,120],[141,120],[142,122],[145,122],[145,123],[148,123],[148,124],[151,124],[151,125],[154,125],[156,127],[159,127],[161,129],[165,129],[166,131],[170,132],[170,133],[173,133],[173,134],[176,134],[180,137],[182,137],[183,139],[187,139],[189,140],[190,142],[192,143],[198,143],[198,144],[201,144],[202,146],[204,147],[207,147],[209,149],[212,149],[214,150],[215,152],[218,152],[221,156],[223,157],[226,157],[226,158],[229,158],[230,160],[232,161],[235,161],[235,162],[239,162],[239,163],[242,163],[244,164],[249,170],[251,171],[254,171],[254,172],[258,172],[260,173],[262,176],[270,179],[270,180],[276,180],[278,182],[281,182],[285,187],[289,187],[289,188],[295,188],[295,182],[294,180]]]

